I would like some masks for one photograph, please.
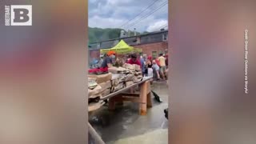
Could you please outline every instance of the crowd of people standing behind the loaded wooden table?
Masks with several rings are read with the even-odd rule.
[[[114,62],[115,61],[115,62]],[[116,58],[114,52],[109,52],[102,59],[102,68],[111,66],[120,66],[120,63],[136,64],[141,67],[143,76],[153,76],[156,80],[166,80],[168,71],[168,55],[159,54],[158,58],[151,56],[146,58],[146,55],[138,57],[138,54],[130,54],[124,56],[121,60]]]

